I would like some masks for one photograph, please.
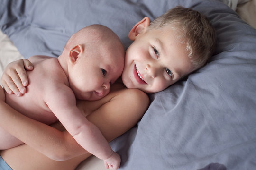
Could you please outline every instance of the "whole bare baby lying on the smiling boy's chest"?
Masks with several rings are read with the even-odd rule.
[[[46,124],[59,120],[88,152],[119,167],[120,158],[100,130],[76,106],[76,99],[98,100],[110,92],[123,71],[124,48],[109,28],[91,25],[73,34],[58,58],[33,56],[27,93],[5,93],[5,102],[27,117]],[[2,91],[1,91],[2,92]],[[23,142],[0,128],[0,149]]]

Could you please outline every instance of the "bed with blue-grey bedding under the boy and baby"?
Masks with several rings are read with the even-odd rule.
[[[33,55],[57,57],[91,24],[110,27],[127,48],[137,21],[177,5],[209,18],[216,51],[203,68],[149,95],[143,118],[110,143],[120,170],[254,170],[256,0],[0,0],[0,71]],[[76,170],[104,165],[91,156]]]

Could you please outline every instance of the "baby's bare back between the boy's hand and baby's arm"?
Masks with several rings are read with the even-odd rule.
[[[57,118],[45,103],[45,93],[53,83],[64,83],[67,79],[56,58],[37,57],[32,62],[34,70],[27,71],[27,93],[21,97],[5,93],[6,103],[27,117],[51,124]]]

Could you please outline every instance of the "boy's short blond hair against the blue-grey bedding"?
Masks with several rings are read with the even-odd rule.
[[[216,33],[210,22],[201,13],[181,6],[168,10],[150,23],[150,29],[170,26],[177,37],[186,44],[191,62],[203,66],[215,50]]]

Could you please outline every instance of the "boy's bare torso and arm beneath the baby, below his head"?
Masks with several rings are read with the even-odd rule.
[[[127,89],[118,81],[111,85],[110,93],[100,100],[77,100],[77,107],[83,115],[101,130],[109,142],[133,127],[145,113],[148,104],[149,100],[145,93],[137,89]],[[116,107],[117,105],[119,107]],[[0,104],[0,109],[5,111],[2,104]],[[16,122],[13,122],[14,115]],[[20,116],[23,115],[7,116],[5,114],[4,117],[0,117],[3,118],[2,121],[6,122],[4,127],[9,130],[15,129],[13,125],[9,124],[12,122],[19,124],[19,127],[22,126],[22,129],[29,129],[29,136],[34,136],[29,138],[13,129],[13,135],[22,139],[26,144],[0,152],[2,158],[11,165],[12,169],[74,170],[81,161],[91,156],[91,153],[77,144],[67,131],[60,132],[54,128],[45,127],[45,124],[38,126],[30,121],[23,122],[20,121]],[[60,125],[55,123],[54,127],[63,131],[64,127]],[[37,151],[32,148],[36,148]]]

